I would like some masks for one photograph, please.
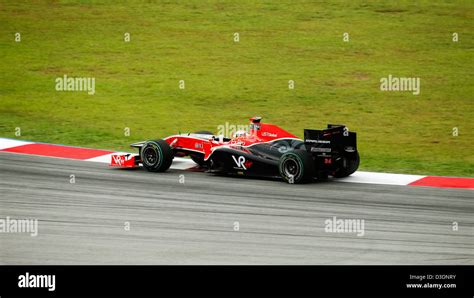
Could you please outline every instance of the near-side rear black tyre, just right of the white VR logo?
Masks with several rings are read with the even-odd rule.
[[[314,175],[314,163],[305,150],[292,150],[280,157],[280,175],[288,183],[310,182]]]

